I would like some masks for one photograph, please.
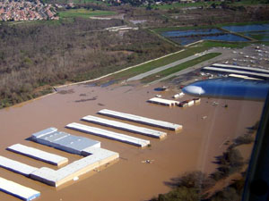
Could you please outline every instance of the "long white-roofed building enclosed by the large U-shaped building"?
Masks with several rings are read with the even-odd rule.
[[[21,155],[26,155],[39,161],[54,164],[57,166],[68,163],[68,159],[63,156],[54,155],[45,151],[41,151],[37,148],[27,147],[21,144],[15,144],[11,147],[7,147],[7,150],[13,151]]]

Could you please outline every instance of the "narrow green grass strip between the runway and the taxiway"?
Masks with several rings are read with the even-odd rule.
[[[160,71],[160,72],[154,73],[154,74],[152,74],[152,75],[150,75],[148,77],[145,77],[145,78],[143,78],[142,82],[143,83],[149,83],[149,82],[152,82],[154,80],[159,80],[161,78],[169,76],[170,74],[176,73],[178,71],[182,71],[184,69],[187,69],[188,67],[192,67],[195,64],[202,63],[204,61],[212,59],[213,57],[216,57],[218,55],[221,55],[221,53],[204,54],[204,55],[202,55],[202,56],[200,56],[198,58],[195,58],[193,60],[187,61],[186,63],[178,64],[178,65],[176,65],[176,66],[174,66],[172,68],[169,68],[167,70]]]

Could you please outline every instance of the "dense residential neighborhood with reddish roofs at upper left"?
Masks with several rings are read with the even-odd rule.
[[[52,4],[42,4],[39,0],[0,2],[0,21],[35,20],[58,20],[55,7]]]

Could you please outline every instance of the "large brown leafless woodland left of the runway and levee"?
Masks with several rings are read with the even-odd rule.
[[[104,30],[123,24],[83,18],[1,24],[0,107],[46,94],[52,85],[96,78],[177,50],[147,30]]]

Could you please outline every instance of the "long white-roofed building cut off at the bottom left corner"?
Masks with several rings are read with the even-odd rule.
[[[19,197],[22,200],[32,200],[40,196],[40,192],[32,188],[24,187],[12,180],[5,180],[0,177],[0,190],[7,194]]]

